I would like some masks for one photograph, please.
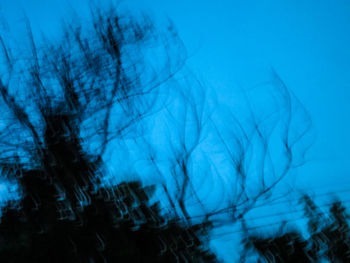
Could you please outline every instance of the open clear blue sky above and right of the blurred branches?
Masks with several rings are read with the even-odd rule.
[[[55,35],[60,17],[72,9],[84,17],[86,3],[3,0],[0,30],[8,23],[20,36],[26,13],[35,33]],[[167,17],[174,22],[188,48],[189,67],[215,90],[219,104],[236,103],[240,90],[269,80],[273,68],[313,121],[315,141],[297,171],[296,186],[319,192],[350,184],[349,1],[125,0],[121,5],[145,11],[160,26]]]

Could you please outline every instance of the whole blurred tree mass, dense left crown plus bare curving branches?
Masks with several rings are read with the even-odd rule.
[[[215,262],[210,230],[239,222],[302,164],[305,109],[273,72],[273,101],[263,104],[274,107],[264,111],[247,99],[244,121],[230,109],[212,114],[199,81],[176,78],[187,55],[173,25],[156,32],[148,18],[115,9],[93,10],[88,22],[40,45],[28,22],[25,55],[0,38],[0,167],[20,192],[2,209],[0,259]],[[152,121],[144,120],[159,112],[153,126],[170,130],[163,134],[168,151],[158,152],[146,134]],[[152,135],[161,141],[160,132]],[[151,186],[106,182],[109,153],[117,148],[126,158],[130,141],[157,177]],[[216,148],[225,165],[205,147]],[[114,170],[120,179],[124,171]],[[205,202],[208,178],[222,186],[216,206]]]

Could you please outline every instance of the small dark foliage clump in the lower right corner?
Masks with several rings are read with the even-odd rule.
[[[335,201],[329,215],[320,212],[309,196],[304,196],[309,238],[299,231],[274,235],[252,235],[247,248],[258,252],[264,262],[350,262],[350,228],[343,204]]]

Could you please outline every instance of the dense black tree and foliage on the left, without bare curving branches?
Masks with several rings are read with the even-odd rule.
[[[215,261],[209,223],[161,213],[149,201],[154,186],[101,179],[108,142],[137,135],[153,90],[170,77],[142,79],[144,68],[133,63],[142,59],[138,45],[152,38],[151,28],[146,20],[97,12],[87,36],[70,28],[61,44],[39,49],[30,35],[25,64],[2,42],[8,71],[0,91],[9,124],[0,166],[21,198],[3,208],[1,262]],[[12,85],[14,72],[23,74],[19,86]]]

